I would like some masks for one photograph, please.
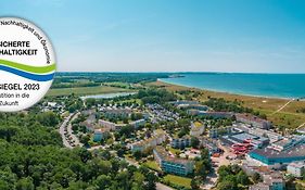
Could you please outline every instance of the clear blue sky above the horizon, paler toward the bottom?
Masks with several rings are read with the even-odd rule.
[[[303,0],[10,0],[60,72],[305,73]]]

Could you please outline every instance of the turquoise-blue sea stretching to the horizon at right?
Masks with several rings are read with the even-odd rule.
[[[305,74],[182,73],[158,80],[236,94],[305,98]]]

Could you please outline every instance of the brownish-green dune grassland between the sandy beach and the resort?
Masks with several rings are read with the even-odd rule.
[[[195,100],[204,102],[208,97],[213,98],[224,98],[229,101],[241,101],[243,106],[252,107],[256,111],[265,113],[267,118],[271,121],[275,125],[284,126],[290,129],[294,129],[300,125],[305,123],[305,114],[297,113],[297,110],[305,107],[305,101],[294,100],[288,104],[280,112],[275,113],[281,106],[283,106],[290,100],[288,99],[277,99],[277,98],[264,98],[264,97],[251,97],[251,96],[240,96],[225,92],[216,92],[208,90],[200,90],[195,88],[181,87],[177,85],[170,85],[162,81],[155,81],[147,84],[151,87],[165,88],[169,91],[181,91],[181,90],[192,90],[199,91],[199,96]]]

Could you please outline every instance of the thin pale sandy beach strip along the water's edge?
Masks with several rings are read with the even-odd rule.
[[[278,100],[300,100],[300,101],[305,101],[304,98],[284,98],[284,97],[271,97],[271,96],[258,96],[258,94],[249,94],[249,93],[236,93],[236,92],[228,92],[228,91],[221,91],[217,89],[206,89],[206,88],[200,88],[200,87],[192,87],[192,86],[187,86],[187,85],[180,85],[180,84],[175,84],[175,83],[168,83],[164,81],[162,78],[157,78],[157,81],[167,84],[167,85],[174,85],[174,86],[179,86],[179,87],[186,87],[186,88],[193,88],[198,90],[203,90],[203,91],[208,91],[208,92],[214,92],[214,93],[225,93],[225,94],[230,94],[230,96],[240,96],[240,97],[253,97],[253,98],[263,98],[263,99],[278,99]]]

